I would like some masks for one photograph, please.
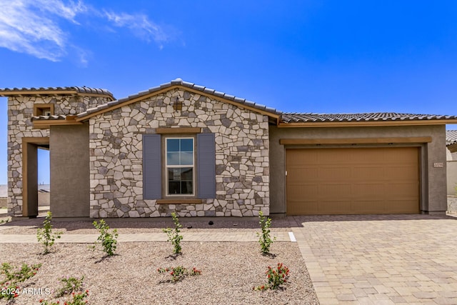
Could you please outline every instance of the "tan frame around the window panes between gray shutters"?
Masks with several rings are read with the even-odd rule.
[[[176,135],[166,135],[163,136],[164,139],[164,150],[162,164],[164,169],[163,174],[163,181],[165,182],[164,187],[164,196],[163,198],[196,198],[196,169],[198,168],[196,164],[196,137],[193,135],[184,135],[184,134],[176,134]],[[192,140],[192,165],[168,165],[168,139],[191,139]],[[192,194],[169,194],[169,169],[178,168],[181,169],[183,167],[191,167],[192,168]]]

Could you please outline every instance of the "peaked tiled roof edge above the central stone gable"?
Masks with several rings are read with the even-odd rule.
[[[141,91],[141,92],[139,92],[137,94],[128,96],[128,97],[126,97],[124,99],[118,99],[116,101],[110,101],[109,103],[96,106],[95,108],[87,109],[85,112],[82,112],[81,114],[78,114],[78,117],[81,118],[81,117],[87,116],[89,114],[93,114],[94,112],[110,108],[111,106],[116,106],[118,104],[122,104],[122,103],[124,103],[126,101],[129,101],[131,99],[141,98],[141,96],[146,96],[148,94],[153,94],[154,92],[159,91],[161,89],[165,89],[165,88],[169,88],[171,86],[177,86],[177,85],[184,86],[184,87],[187,87],[187,88],[190,88],[190,89],[194,89],[194,90],[198,90],[198,91],[201,91],[201,92],[206,93],[206,94],[212,94],[214,96],[218,96],[218,97],[223,98],[223,99],[228,99],[230,101],[236,102],[237,104],[240,104],[240,106],[243,106],[243,105],[244,106],[250,106],[250,107],[253,107],[253,108],[256,108],[256,109],[259,109],[259,110],[271,112],[272,114],[281,114],[281,111],[278,111],[276,109],[273,109],[273,108],[270,108],[270,107],[267,107],[267,106],[263,106],[261,104],[256,104],[253,101],[247,101],[246,99],[241,99],[239,97],[236,97],[236,96],[233,96],[233,95],[230,95],[230,94],[226,94],[224,92],[216,91],[214,89],[209,89],[209,88],[206,88],[205,86],[199,86],[199,85],[196,85],[194,83],[189,83],[188,81],[183,81],[182,79],[175,79],[174,81],[170,81],[168,83],[161,84],[160,86],[153,87],[153,88],[151,88],[149,90],[146,90],[146,91]]]

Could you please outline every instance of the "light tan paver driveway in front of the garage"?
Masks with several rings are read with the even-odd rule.
[[[457,219],[293,219],[321,304],[457,304]]]

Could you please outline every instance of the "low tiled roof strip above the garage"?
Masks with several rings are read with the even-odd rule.
[[[283,113],[284,123],[305,122],[343,122],[343,121],[413,121],[457,119],[457,116],[442,116],[437,114],[398,114],[396,112],[373,112],[368,114],[298,114]]]

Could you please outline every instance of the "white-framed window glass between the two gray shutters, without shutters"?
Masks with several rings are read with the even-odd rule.
[[[194,138],[167,138],[166,195],[194,195]]]

